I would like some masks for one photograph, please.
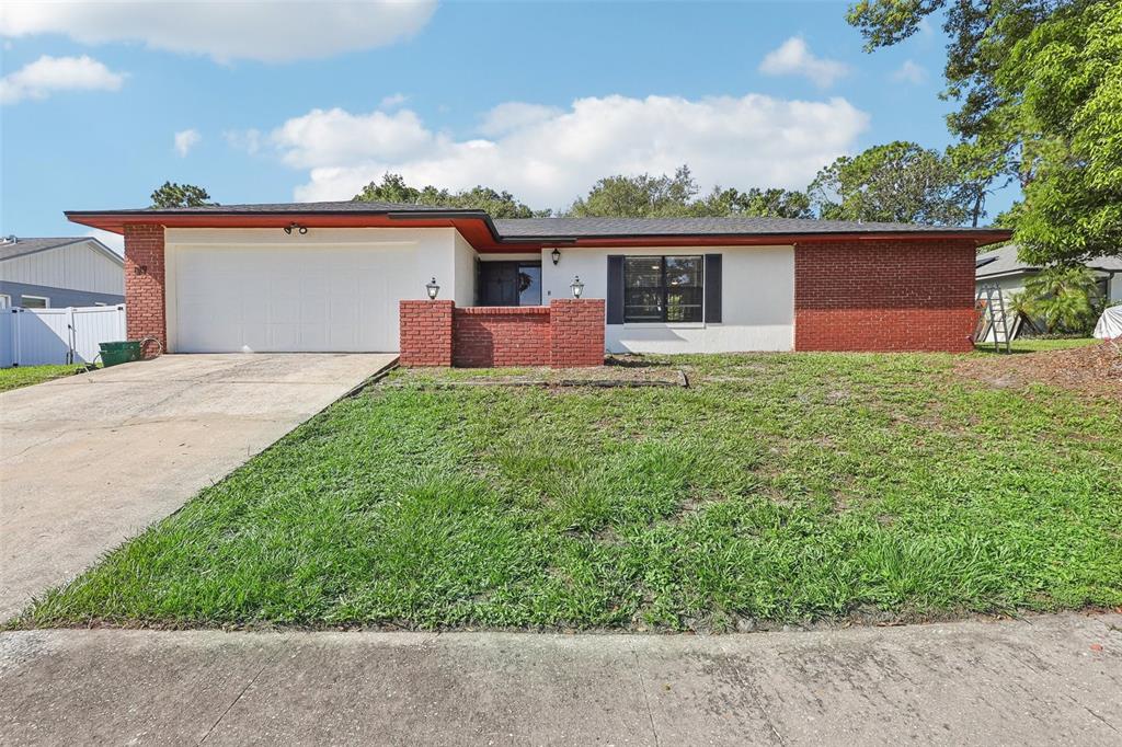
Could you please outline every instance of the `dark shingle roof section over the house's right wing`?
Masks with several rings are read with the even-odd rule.
[[[781,233],[960,233],[960,227],[914,223],[863,223],[817,221],[795,218],[525,218],[495,221],[499,234],[508,238],[610,237],[610,236],[752,236]]]

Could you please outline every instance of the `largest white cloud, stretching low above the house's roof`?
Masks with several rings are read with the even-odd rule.
[[[536,116],[519,122],[512,117],[519,111]],[[268,141],[286,164],[309,169],[307,183],[295,191],[302,201],[347,200],[396,172],[411,184],[486,184],[534,206],[562,208],[603,176],[672,173],[681,164],[706,188],[802,188],[822,165],[850,150],[868,116],[842,98],[613,95],[579,99],[563,111],[500,104],[482,121],[493,128],[500,122],[500,132],[457,139],[408,110],[316,109],[284,122]]]

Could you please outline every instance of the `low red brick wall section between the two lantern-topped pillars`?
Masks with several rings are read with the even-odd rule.
[[[550,310],[545,306],[457,308],[452,339],[453,366],[549,366]]]

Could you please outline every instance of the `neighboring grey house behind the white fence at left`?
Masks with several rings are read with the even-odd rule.
[[[125,259],[91,237],[0,239],[0,308],[123,303]]]

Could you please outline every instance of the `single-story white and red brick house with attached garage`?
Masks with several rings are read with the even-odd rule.
[[[173,352],[402,350],[405,360],[411,335],[438,323],[417,322],[426,307],[411,305],[432,285],[431,308],[447,305],[449,320],[438,336],[491,347],[457,353],[468,365],[522,360],[494,349],[535,344],[526,340],[545,334],[545,314],[568,308],[574,285],[603,308],[601,342],[588,343],[601,358],[605,348],[966,351],[977,248],[1010,236],[766,218],[493,220],[379,202],[66,215],[123,234],[132,339]]]

